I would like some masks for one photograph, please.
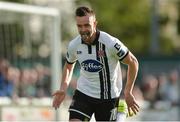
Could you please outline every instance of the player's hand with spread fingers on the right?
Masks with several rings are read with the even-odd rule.
[[[131,93],[125,94],[125,100],[126,100],[126,104],[128,106],[129,115],[130,116],[132,116],[133,114],[136,115],[139,112],[140,107],[139,107],[137,101],[135,100],[133,94],[131,94]]]

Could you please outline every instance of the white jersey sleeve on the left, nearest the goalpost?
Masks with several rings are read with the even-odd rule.
[[[67,53],[66,53],[66,60],[68,63],[73,64],[77,60],[75,47],[73,47],[72,43],[69,43]]]

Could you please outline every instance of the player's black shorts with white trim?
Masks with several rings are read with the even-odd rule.
[[[69,119],[89,121],[92,114],[96,121],[115,121],[119,98],[101,100],[76,90],[69,107]]]

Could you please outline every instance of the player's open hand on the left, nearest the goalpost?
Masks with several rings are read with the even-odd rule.
[[[52,94],[52,96],[54,97],[53,107],[57,109],[65,98],[65,91],[57,90],[55,93]]]

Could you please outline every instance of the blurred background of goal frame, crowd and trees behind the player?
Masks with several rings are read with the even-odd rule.
[[[180,121],[180,0],[0,0],[0,120],[68,120],[78,64],[58,111],[51,94],[81,5],[139,60],[133,92],[141,111],[127,121]]]

